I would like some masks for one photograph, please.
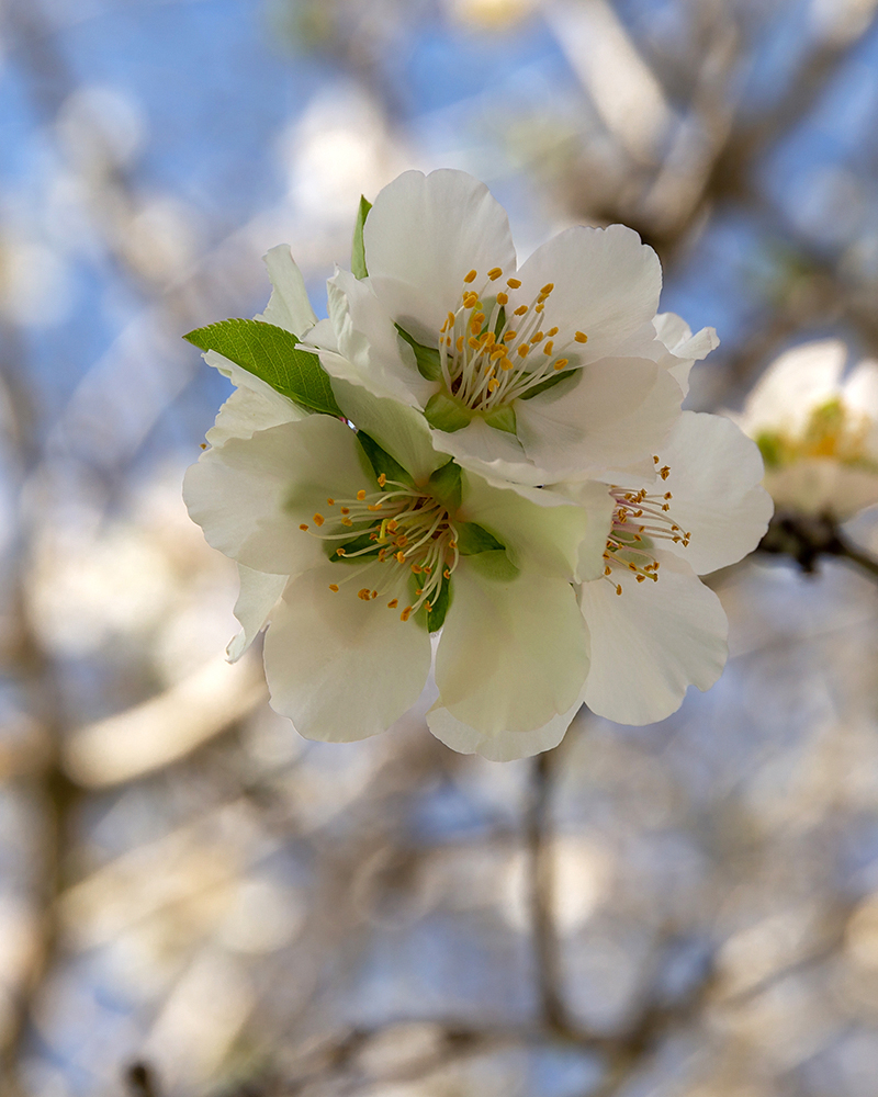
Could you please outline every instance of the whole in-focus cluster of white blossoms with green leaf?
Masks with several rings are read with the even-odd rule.
[[[727,623],[698,576],[770,501],[754,443],[682,410],[716,336],[656,315],[637,234],[569,229],[519,268],[487,188],[406,172],[362,203],[327,319],[289,247],[267,263],[256,321],[189,337],[238,387],[185,497],[239,566],[229,655],[269,624],[303,735],[384,731],[432,674],[432,733],[503,760],[583,703],[648,723],[716,681]]]

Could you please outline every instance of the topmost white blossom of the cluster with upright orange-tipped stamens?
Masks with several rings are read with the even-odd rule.
[[[587,479],[654,452],[716,344],[656,316],[662,273],[631,229],[575,227],[517,269],[509,224],[461,171],[408,171],[363,229],[369,276],[329,280],[308,336],[334,377],[421,410],[434,445],[517,483]]]

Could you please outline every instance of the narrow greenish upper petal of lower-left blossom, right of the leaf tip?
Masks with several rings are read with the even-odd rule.
[[[448,455],[432,448],[427,420],[414,408],[396,400],[382,400],[367,388],[333,380],[333,393],[345,417],[364,430],[412,474],[426,484]]]

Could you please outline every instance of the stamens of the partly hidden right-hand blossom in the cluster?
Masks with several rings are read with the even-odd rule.
[[[656,475],[666,480],[671,475],[669,466],[662,465],[657,456],[652,460]],[[660,564],[652,552],[653,542],[673,541],[686,547],[691,533],[671,520],[671,491],[648,491],[646,488],[632,491],[614,486],[610,495],[616,499],[616,509],[604,550],[604,578],[616,588],[617,595],[621,595],[622,585],[614,578],[616,568],[633,573],[638,583],[646,579],[657,583]]]

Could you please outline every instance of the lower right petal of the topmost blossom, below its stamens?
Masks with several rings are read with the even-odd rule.
[[[679,416],[679,385],[655,362],[604,359],[516,403],[525,452],[542,483],[584,479],[657,452]]]

